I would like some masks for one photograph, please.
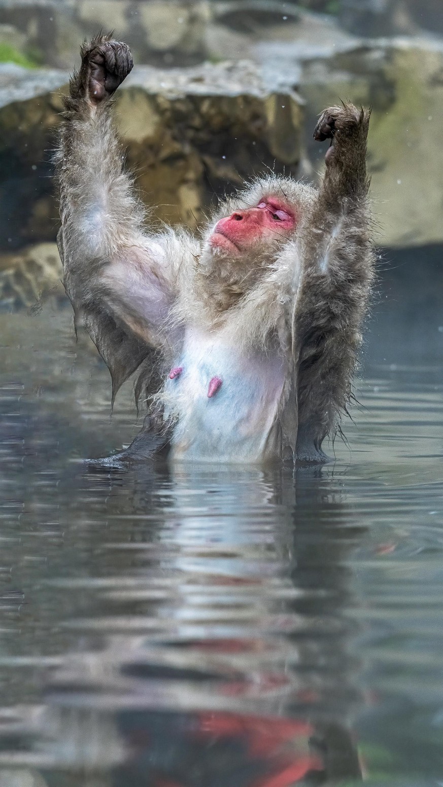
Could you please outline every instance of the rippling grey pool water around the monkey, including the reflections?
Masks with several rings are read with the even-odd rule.
[[[441,784],[441,371],[383,314],[294,473],[88,466],[131,386],[110,422],[69,309],[0,315],[0,787]]]

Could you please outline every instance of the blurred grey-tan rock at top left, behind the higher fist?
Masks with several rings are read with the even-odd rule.
[[[207,57],[208,0],[0,0],[0,9],[30,53],[59,68],[70,67],[80,42],[102,29],[125,39],[138,62],[193,65]]]

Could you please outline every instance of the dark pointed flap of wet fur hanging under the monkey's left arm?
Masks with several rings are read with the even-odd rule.
[[[112,380],[111,410],[118,390],[151,354],[150,345],[133,334],[128,334],[123,325],[109,314],[101,311],[85,311],[83,323],[102,359],[110,370]]]

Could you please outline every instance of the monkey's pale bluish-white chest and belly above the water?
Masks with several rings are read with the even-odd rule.
[[[177,419],[173,460],[253,463],[281,456],[281,358],[246,357],[217,335],[190,329],[174,365],[183,371],[164,392],[165,417]],[[214,377],[221,387],[208,397]]]

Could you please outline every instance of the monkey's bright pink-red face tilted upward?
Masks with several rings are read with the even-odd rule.
[[[274,198],[263,198],[255,208],[236,210],[218,221],[210,236],[213,249],[240,255],[263,241],[273,242],[288,236],[296,226],[296,216],[288,205]]]

